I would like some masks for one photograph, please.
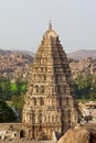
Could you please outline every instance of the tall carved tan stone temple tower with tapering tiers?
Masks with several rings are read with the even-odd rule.
[[[72,76],[65,52],[50,23],[35,54],[22,123],[25,136],[52,139],[77,123]]]

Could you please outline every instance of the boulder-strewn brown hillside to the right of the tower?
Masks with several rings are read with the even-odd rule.
[[[68,62],[73,78],[76,78],[79,74],[83,77],[96,75],[96,58],[86,57],[81,61],[68,58]]]

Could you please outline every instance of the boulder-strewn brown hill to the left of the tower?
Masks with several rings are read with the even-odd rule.
[[[10,78],[28,78],[33,57],[26,52],[0,50],[0,75]]]

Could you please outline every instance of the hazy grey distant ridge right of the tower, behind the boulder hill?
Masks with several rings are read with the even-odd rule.
[[[74,59],[83,59],[86,57],[96,58],[96,51],[95,50],[79,50],[73,53],[67,53],[67,56]]]

